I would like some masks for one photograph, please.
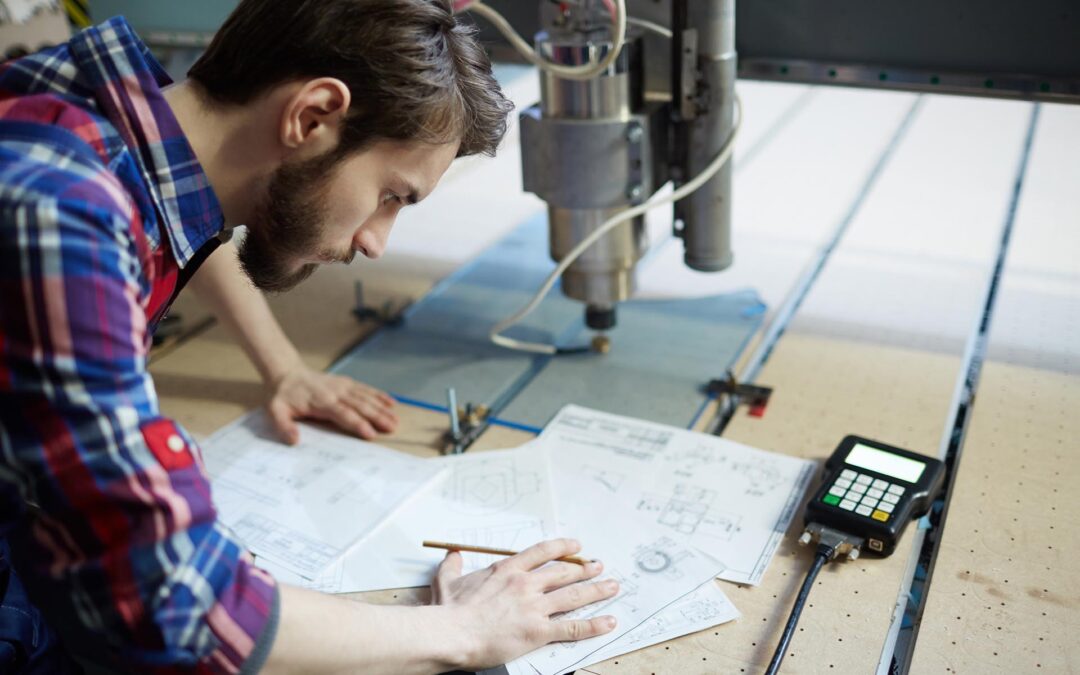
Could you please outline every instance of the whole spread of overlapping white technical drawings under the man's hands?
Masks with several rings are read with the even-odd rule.
[[[522,550],[556,536],[602,559],[615,598],[566,618],[616,630],[549,645],[510,675],[558,675],[739,616],[714,578],[760,582],[811,462],[567,406],[534,442],[421,460],[303,426],[279,445],[261,415],[204,446],[222,521],[280,580],[329,593],[428,585],[424,539]],[[464,554],[464,572],[494,558]]]

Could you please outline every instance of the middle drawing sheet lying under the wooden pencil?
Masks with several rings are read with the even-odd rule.
[[[444,467],[433,484],[314,580],[259,565],[286,583],[325,593],[426,586],[446,552],[424,539],[526,549],[555,536],[546,451],[536,445],[424,460]],[[463,553],[463,573],[501,556]]]

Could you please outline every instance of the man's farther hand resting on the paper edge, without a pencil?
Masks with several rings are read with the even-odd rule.
[[[340,375],[299,365],[269,383],[267,409],[285,443],[300,440],[298,419],[319,419],[369,441],[397,428],[394,400],[378,389]]]

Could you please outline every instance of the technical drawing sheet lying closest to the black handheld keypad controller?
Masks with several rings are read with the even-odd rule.
[[[594,512],[633,513],[720,561],[720,578],[760,583],[813,476],[808,460],[732,441],[567,406],[540,438],[549,448],[556,503],[588,492]],[[561,513],[580,527],[580,518]],[[573,532],[585,539],[591,532]]]

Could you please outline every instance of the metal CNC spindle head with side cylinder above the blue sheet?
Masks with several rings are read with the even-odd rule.
[[[646,4],[652,6],[637,6]],[[635,17],[618,56],[595,77],[568,79],[541,68],[540,103],[521,116],[525,189],[548,202],[556,261],[669,180],[678,188],[702,175],[731,139],[734,1],[675,1],[666,17],[656,16],[656,5],[540,5],[537,54],[562,66],[602,62],[618,49],[616,13],[629,10]],[[689,267],[714,272],[731,265],[730,160],[674,210]],[[585,305],[586,325],[616,325],[616,306],[634,292],[635,265],[646,248],[644,216],[637,215],[566,268],[563,293]]]

